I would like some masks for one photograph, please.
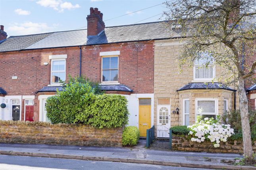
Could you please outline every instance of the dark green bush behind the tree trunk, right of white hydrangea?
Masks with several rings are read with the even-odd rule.
[[[251,129],[252,142],[256,141],[256,111],[248,110],[249,123]],[[230,110],[223,113],[221,117],[223,123],[231,125],[234,128],[235,134],[230,137],[230,140],[242,140],[242,125],[241,125],[241,114],[239,110]]]

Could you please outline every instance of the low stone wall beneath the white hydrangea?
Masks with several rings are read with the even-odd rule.
[[[220,146],[215,148],[212,142],[202,143],[192,142],[186,136],[172,135],[172,150],[179,151],[200,151],[200,152],[222,152],[222,153],[243,153],[243,143],[241,141],[220,142]],[[256,142],[252,146],[256,153]]]

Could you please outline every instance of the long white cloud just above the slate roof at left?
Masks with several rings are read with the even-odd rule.
[[[14,32],[15,35],[26,35],[51,32],[56,26],[58,26],[58,24],[48,26],[46,23],[33,23],[31,21],[26,21],[24,23],[14,23],[7,29]]]

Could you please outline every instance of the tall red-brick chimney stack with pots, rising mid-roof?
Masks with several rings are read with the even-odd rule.
[[[102,20],[103,13],[100,13],[98,8],[90,8],[90,15],[87,15],[87,36],[96,36],[105,28],[105,23]]]

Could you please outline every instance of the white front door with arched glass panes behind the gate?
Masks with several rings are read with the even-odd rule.
[[[170,105],[157,106],[157,137],[169,138],[170,121]]]

